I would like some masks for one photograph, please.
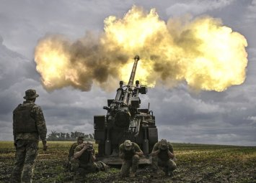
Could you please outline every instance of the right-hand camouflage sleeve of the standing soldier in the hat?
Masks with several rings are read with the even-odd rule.
[[[35,108],[35,123],[37,125],[37,131],[39,133],[40,139],[46,141],[47,128],[45,124],[45,118],[43,116],[43,111],[40,106]]]

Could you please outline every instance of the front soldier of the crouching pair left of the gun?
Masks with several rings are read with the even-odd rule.
[[[95,163],[94,147],[89,141],[76,146],[74,160],[77,162],[77,166],[74,167],[74,182],[85,182],[86,174],[99,172],[99,167]]]

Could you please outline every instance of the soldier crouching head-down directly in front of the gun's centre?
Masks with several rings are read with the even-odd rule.
[[[143,152],[138,144],[130,140],[125,140],[124,143],[119,146],[119,156],[123,159],[121,176],[128,177],[131,167],[130,177],[135,177],[139,158],[143,156]]]

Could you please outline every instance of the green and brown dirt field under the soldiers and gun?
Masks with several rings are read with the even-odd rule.
[[[66,157],[72,142],[50,142],[40,149],[35,165],[34,181],[72,182],[66,171]],[[41,145],[41,144],[40,144]],[[120,169],[88,174],[88,182],[244,182],[256,183],[256,147],[173,144],[177,156],[174,177],[165,177],[161,169],[153,171],[141,166],[135,178],[122,179]],[[0,141],[0,182],[9,182],[14,160],[12,142]]]

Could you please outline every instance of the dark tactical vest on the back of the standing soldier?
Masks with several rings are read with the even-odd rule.
[[[35,119],[31,116],[32,107],[35,103],[29,105],[19,105],[14,111],[14,132],[32,133],[37,132]]]

